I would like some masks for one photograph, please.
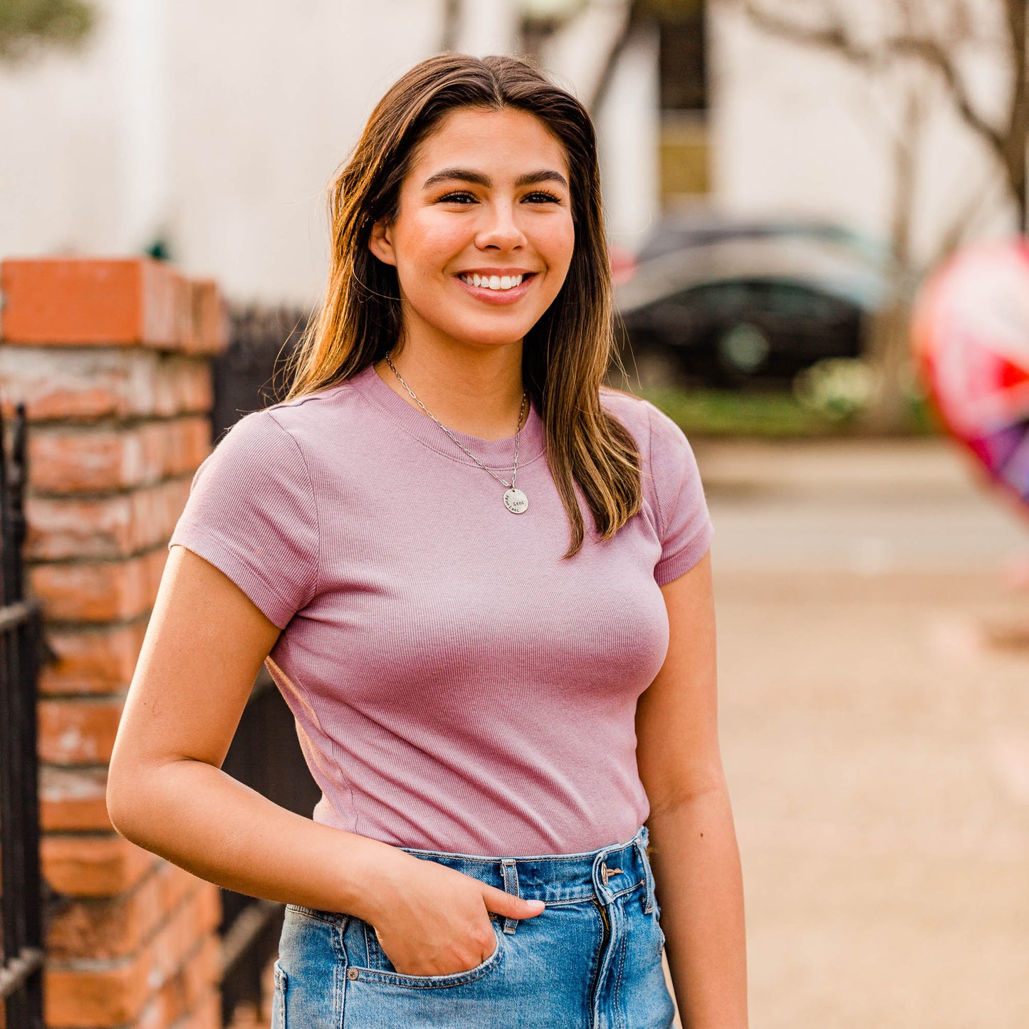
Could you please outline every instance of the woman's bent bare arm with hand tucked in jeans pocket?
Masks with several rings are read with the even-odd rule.
[[[111,757],[115,829],[219,886],[371,923],[398,971],[485,960],[495,946],[487,913],[537,914],[526,901],[287,811],[221,771],[278,635],[232,579],[172,547]]]

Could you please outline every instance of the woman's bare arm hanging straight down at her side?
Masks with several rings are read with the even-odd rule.
[[[670,641],[640,698],[651,863],[686,1029],[746,1029],[743,880],[718,747],[711,557],[662,588]]]

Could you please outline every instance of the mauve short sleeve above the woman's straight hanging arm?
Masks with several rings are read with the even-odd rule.
[[[661,558],[653,576],[665,586],[704,557],[714,528],[689,441],[667,415],[652,404],[648,409],[650,472],[661,531]]]

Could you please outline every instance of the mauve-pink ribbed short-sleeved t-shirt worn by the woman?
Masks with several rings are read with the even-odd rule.
[[[371,365],[245,416],[193,478],[169,546],[215,565],[283,632],[267,666],[322,790],[317,821],[491,856],[596,850],[649,807],[639,695],[668,649],[660,586],[711,523],[681,430],[604,389],[640,448],[643,508],[569,560],[533,406],[504,487]],[[509,478],[514,437],[454,433]]]

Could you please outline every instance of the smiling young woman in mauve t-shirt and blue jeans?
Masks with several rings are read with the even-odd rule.
[[[521,61],[426,61],[330,213],[289,395],[172,537],[114,825],[288,903],[278,1027],[667,1027],[667,936],[683,1024],[742,1029],[711,526],[681,431],[601,387],[588,114]],[[220,771],[262,662],[314,820]]]

